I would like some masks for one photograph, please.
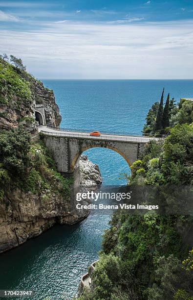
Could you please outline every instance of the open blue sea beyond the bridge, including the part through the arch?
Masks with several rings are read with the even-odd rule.
[[[163,87],[176,102],[193,97],[193,80],[43,80],[54,90],[65,128],[141,133],[151,105],[160,101]],[[130,173],[125,159],[110,149],[84,154],[98,164],[105,185],[125,184]],[[121,176],[122,177],[122,176]]]

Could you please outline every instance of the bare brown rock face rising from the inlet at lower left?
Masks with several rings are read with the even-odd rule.
[[[86,216],[86,211],[73,209],[70,198],[10,189],[0,201],[0,252],[40,235],[55,223],[71,225]]]

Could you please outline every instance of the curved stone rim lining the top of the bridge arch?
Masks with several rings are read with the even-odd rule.
[[[129,167],[132,165],[132,163],[130,162],[129,158],[124,154],[124,152],[120,151],[119,149],[115,148],[115,147],[112,147],[112,146],[108,146],[108,145],[105,145],[105,146],[101,146],[101,145],[89,145],[87,147],[83,147],[81,150],[79,150],[76,155],[74,156],[74,158],[72,159],[72,162],[71,162],[71,165],[70,165],[70,169],[71,169],[71,172],[74,171],[74,168],[76,166],[76,162],[78,161],[79,157],[81,156],[81,154],[85,151],[85,150],[88,150],[88,149],[91,149],[91,148],[107,148],[107,149],[111,149],[111,150],[114,150],[115,152],[119,153],[128,163]]]

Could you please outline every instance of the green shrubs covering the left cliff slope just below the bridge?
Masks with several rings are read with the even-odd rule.
[[[6,189],[42,195],[48,200],[53,194],[69,197],[72,178],[64,178],[42,141],[31,144],[30,135],[20,125],[0,133],[0,199]]]

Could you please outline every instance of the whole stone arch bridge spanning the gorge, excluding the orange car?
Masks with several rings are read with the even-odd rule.
[[[58,171],[67,176],[73,174],[80,155],[87,149],[103,147],[114,150],[131,166],[150,140],[158,140],[152,137],[116,134],[90,136],[88,132],[62,131],[42,125],[39,126],[39,132],[42,133],[45,145],[55,159]]]

